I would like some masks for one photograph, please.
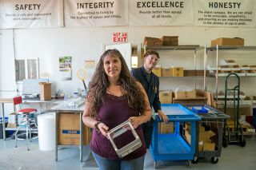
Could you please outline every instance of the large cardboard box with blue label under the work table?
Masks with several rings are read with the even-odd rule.
[[[89,144],[90,128],[83,125],[83,144]],[[58,113],[58,144],[80,144],[80,115],[76,113]]]

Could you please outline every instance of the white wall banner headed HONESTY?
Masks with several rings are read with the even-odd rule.
[[[195,26],[256,26],[255,0],[194,0]]]

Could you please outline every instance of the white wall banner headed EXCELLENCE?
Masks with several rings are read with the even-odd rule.
[[[193,24],[193,0],[129,1],[130,26],[189,26]]]

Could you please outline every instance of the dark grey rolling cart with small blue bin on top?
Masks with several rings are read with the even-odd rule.
[[[198,158],[207,157],[210,158],[210,162],[212,164],[217,164],[218,157],[221,156],[222,144],[226,143],[226,140],[222,139],[223,124],[227,119],[230,118],[230,116],[220,112],[218,109],[210,107],[209,105],[186,105],[186,107],[194,111],[194,113],[196,113],[199,117],[202,117],[202,121],[197,121],[195,154],[192,163],[196,164],[198,163]],[[214,151],[207,151],[206,149],[199,150],[199,125],[204,125],[207,130],[211,130],[215,133],[215,135],[212,137],[215,144]]]

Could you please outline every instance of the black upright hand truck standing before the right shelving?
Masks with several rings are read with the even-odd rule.
[[[229,88],[229,78],[230,77],[236,78],[236,85],[233,85],[233,88]],[[240,101],[240,77],[236,73],[229,73],[225,78],[225,101],[224,101],[224,113],[226,113],[227,105],[227,93],[233,93],[233,107],[234,107],[234,130],[233,132],[230,131],[229,125],[225,124],[224,128],[224,135],[226,136],[226,129],[227,129],[227,140],[228,144],[240,144],[240,146],[246,146],[246,140],[243,137],[243,130],[242,126],[239,123],[239,101]]]

